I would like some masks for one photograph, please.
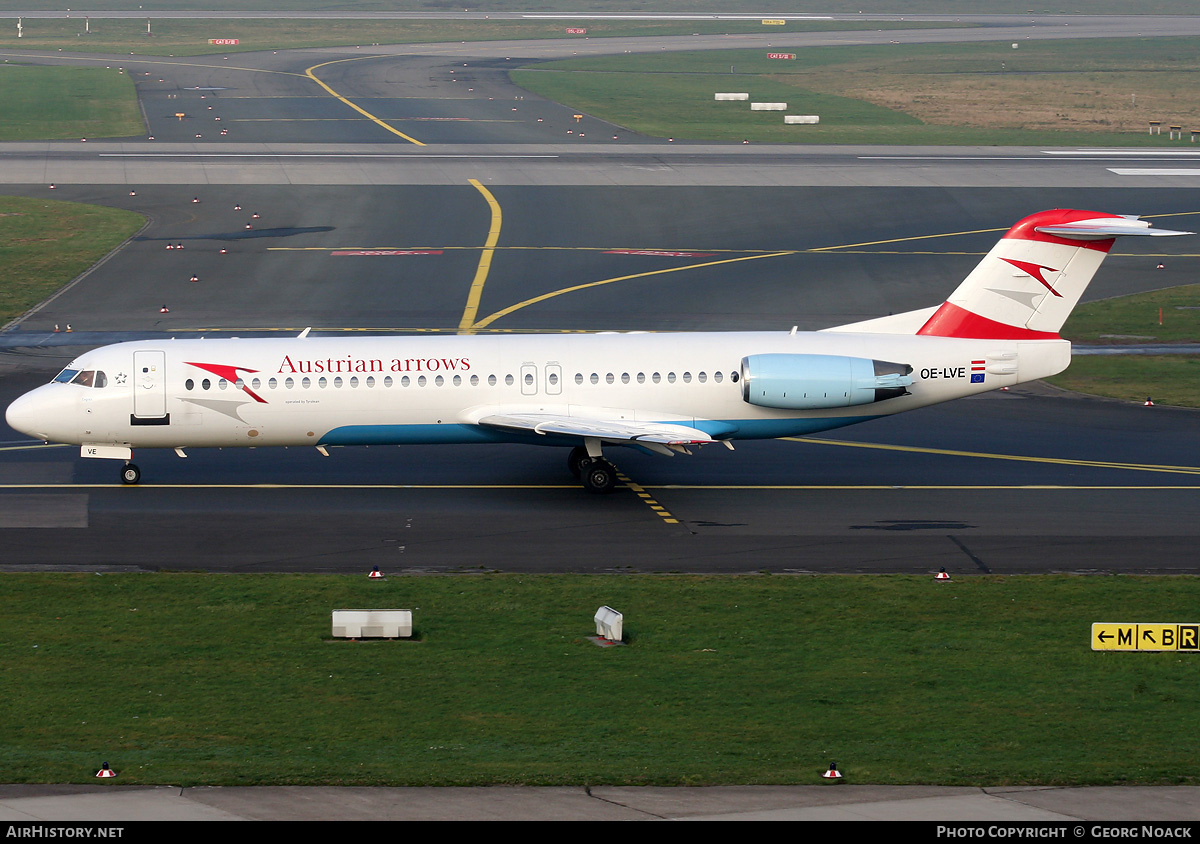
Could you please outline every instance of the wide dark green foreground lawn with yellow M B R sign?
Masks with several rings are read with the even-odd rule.
[[[1193,577],[6,574],[7,782],[1196,784]],[[588,641],[600,605],[628,646]],[[341,607],[415,641],[330,638]]]

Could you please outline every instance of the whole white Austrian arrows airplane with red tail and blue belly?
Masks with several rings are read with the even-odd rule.
[[[10,405],[17,431],[124,460],[134,448],[516,442],[664,455],[788,437],[1044,378],[1058,330],[1136,217],[1052,210],[1013,226],[942,305],[822,331],[138,341],[79,355]]]

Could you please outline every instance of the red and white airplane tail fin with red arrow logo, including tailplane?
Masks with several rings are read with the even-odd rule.
[[[1001,238],[917,334],[1054,340],[1115,239],[1174,235],[1136,217],[1058,209],[1025,217]]]

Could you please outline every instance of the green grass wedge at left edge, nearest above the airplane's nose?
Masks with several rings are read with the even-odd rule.
[[[140,214],[101,205],[0,197],[0,324],[44,300],[144,222]]]

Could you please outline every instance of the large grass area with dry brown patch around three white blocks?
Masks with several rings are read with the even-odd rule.
[[[898,36],[899,37],[899,36]],[[511,73],[541,96],[647,134],[764,143],[1180,146],[1148,122],[1188,122],[1200,40],[821,47],[577,58]],[[715,102],[786,102],[818,125]]]

